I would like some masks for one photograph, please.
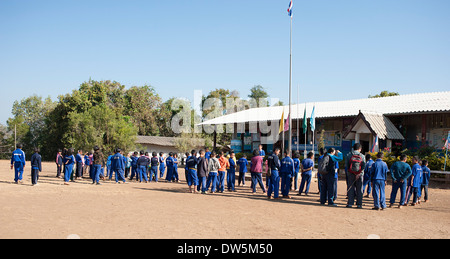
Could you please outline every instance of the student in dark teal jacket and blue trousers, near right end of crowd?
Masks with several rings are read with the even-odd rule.
[[[389,208],[391,208],[395,199],[397,198],[397,192],[400,189],[400,204],[398,208],[402,208],[405,205],[406,200],[406,184],[407,179],[411,176],[411,166],[406,163],[407,156],[405,154],[400,156],[400,161],[395,162],[391,167],[392,176],[392,192],[389,202]]]

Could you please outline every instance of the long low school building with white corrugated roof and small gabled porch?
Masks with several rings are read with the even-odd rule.
[[[310,119],[314,108],[315,131]],[[308,130],[303,134],[306,109]],[[263,107],[227,114],[201,125],[227,126],[232,129],[231,148],[235,152],[251,152],[260,144],[271,152],[281,147],[279,134],[282,114],[289,106]],[[301,103],[292,105],[292,139],[284,133],[285,148],[292,141],[293,150],[314,149],[322,139],[326,148],[334,147],[344,154],[355,142],[363,151],[385,148],[415,149],[429,145],[442,149],[450,131],[450,91],[408,94],[383,98]]]

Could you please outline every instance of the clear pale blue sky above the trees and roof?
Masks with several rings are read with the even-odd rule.
[[[1,0],[0,123],[14,100],[92,78],[193,98],[254,85],[288,102],[288,0]],[[300,102],[450,90],[450,1],[294,0]]]

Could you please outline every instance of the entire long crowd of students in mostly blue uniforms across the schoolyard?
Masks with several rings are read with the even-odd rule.
[[[318,158],[318,188],[320,193],[320,203],[330,206],[337,206],[337,182],[339,162],[344,160],[343,154],[339,150],[330,148],[327,152],[320,150]],[[347,182],[347,207],[353,207],[355,200],[357,208],[362,208],[363,194],[367,188],[367,196],[373,192],[374,210],[383,210],[386,206],[385,187],[387,174],[392,176],[392,192],[390,195],[390,205],[395,204],[397,193],[400,190],[399,208],[407,206],[412,197],[411,205],[420,204],[422,192],[424,201],[428,201],[428,184],[430,179],[430,169],[426,160],[420,161],[418,157],[413,158],[412,167],[406,163],[407,156],[402,155],[400,161],[395,162],[389,169],[383,161],[383,152],[377,154],[376,161],[370,155],[364,156],[361,153],[359,143],[353,146],[353,150],[345,159],[345,172]],[[225,156],[224,152],[210,152],[208,148],[200,150],[199,153],[192,150],[186,153],[185,177],[189,186],[189,192],[202,194],[223,192],[225,185],[228,191],[235,192],[236,172],[239,171],[238,185],[245,186],[245,177],[250,165],[251,189],[256,193],[259,185],[262,192],[268,199],[291,198],[291,189],[298,191],[297,195],[308,195],[312,172],[315,168],[314,153],[310,152],[307,157],[300,161],[300,154],[295,152],[293,158],[290,152],[286,151],[284,157],[280,159],[280,149],[276,148],[264,161],[265,152],[262,146],[259,150],[253,151],[250,161],[243,155],[236,160],[234,152]],[[31,179],[36,185],[39,172],[42,171],[41,156],[39,149],[31,157]],[[150,157],[144,151],[134,152],[132,155],[124,156],[121,149],[117,148],[114,154],[109,154],[105,159],[98,146],[94,147],[93,153],[86,153],[79,150],[74,154],[73,149],[59,150],[56,157],[57,177],[64,174],[64,184],[69,181],[83,177],[83,173],[89,171],[89,177],[93,184],[100,184],[100,179],[112,179],[115,174],[116,183],[126,183],[126,179],[131,172],[129,180],[136,177],[139,182],[158,182],[164,177],[167,169],[166,182],[178,182],[178,158],[176,153],[169,153],[164,158],[164,153],[152,153]],[[265,164],[266,183],[263,183],[263,168]],[[25,168],[25,153],[22,145],[18,144],[11,158],[11,169],[15,169],[15,183],[23,180]],[[76,166],[76,167],[75,167]],[[104,169],[107,169],[106,174]],[[75,169],[75,170],[74,170]],[[159,177],[158,177],[159,170]],[[298,187],[298,177],[301,173],[301,184]],[[226,184],[225,184],[226,182]],[[280,197],[280,192],[282,197]],[[273,196],[272,196],[273,194]]]

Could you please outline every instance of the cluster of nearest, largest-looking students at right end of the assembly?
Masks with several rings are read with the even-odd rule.
[[[336,206],[334,201],[337,196],[337,173],[339,162],[343,160],[342,153],[330,148],[327,153],[320,152],[318,165],[320,203]],[[392,192],[389,200],[389,207],[396,203],[397,193],[400,190],[400,202],[398,208],[408,206],[411,196],[412,206],[420,204],[422,191],[424,191],[424,201],[428,201],[428,184],[430,179],[430,169],[428,161],[418,157],[413,157],[413,166],[406,163],[407,156],[401,155],[400,161],[395,162],[388,168],[383,161],[384,153],[377,154],[376,161],[370,155],[364,156],[361,153],[361,144],[356,143],[353,150],[345,160],[345,173],[347,182],[347,206],[352,208],[355,199],[357,208],[362,208],[363,194],[367,187],[367,196],[373,192],[374,210],[386,209],[387,174],[392,176]]]

